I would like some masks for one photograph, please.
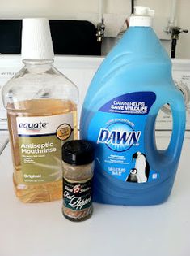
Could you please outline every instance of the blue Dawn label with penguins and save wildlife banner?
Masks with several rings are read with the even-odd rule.
[[[145,151],[146,119],[156,100],[153,92],[127,93],[99,108],[87,137],[97,144],[96,166],[125,182],[145,183],[159,175]]]

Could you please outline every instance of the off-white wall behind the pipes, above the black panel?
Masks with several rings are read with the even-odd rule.
[[[95,15],[97,19],[99,0],[0,0],[0,18],[23,18],[46,16],[49,19],[80,19]],[[171,0],[136,0],[137,5],[147,5],[155,10],[156,16],[169,17]],[[190,0],[178,0],[178,25],[190,30]],[[130,0],[104,0],[104,12],[119,15],[131,10]],[[177,46],[179,58],[190,59],[190,32],[181,34]]]

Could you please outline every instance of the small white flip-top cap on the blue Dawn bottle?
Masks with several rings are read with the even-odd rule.
[[[149,7],[134,7],[134,14],[129,19],[129,27],[151,27],[154,10]]]

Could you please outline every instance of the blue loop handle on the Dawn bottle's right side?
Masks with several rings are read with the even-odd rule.
[[[173,95],[172,95],[173,94]],[[145,130],[145,149],[148,153],[150,166],[155,170],[165,170],[170,168],[179,161],[181,147],[184,141],[185,131],[185,105],[184,98],[179,91],[172,93],[170,99],[163,100],[163,104],[155,104],[150,110],[156,115],[149,115],[146,122]],[[168,97],[168,95],[166,95]],[[158,111],[164,104],[171,106],[171,114],[173,119],[173,128],[171,133],[171,140],[166,150],[158,150],[155,139],[155,121]],[[152,118],[154,116],[154,118]]]

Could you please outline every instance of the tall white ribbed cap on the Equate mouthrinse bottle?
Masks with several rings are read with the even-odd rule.
[[[23,19],[22,59],[53,59],[53,43],[46,18]]]

